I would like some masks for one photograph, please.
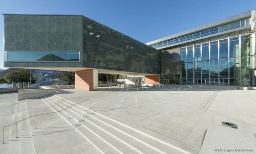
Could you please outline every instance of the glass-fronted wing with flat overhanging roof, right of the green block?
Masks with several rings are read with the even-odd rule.
[[[161,84],[256,86],[255,10],[146,43],[162,51]]]

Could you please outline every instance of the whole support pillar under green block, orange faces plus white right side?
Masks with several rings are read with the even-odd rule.
[[[90,91],[98,88],[98,70],[84,69],[75,72],[75,89]]]

